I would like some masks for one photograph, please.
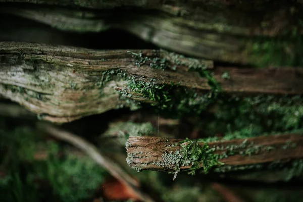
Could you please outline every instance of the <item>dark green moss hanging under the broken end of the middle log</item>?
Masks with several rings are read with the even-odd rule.
[[[173,83],[157,84],[155,79],[149,79],[146,82],[144,78],[137,77],[132,77],[129,80],[129,89],[127,90],[148,98],[151,101],[151,106],[156,106],[161,111],[169,112],[173,116],[199,115],[215,102],[221,88],[208,71],[198,71],[201,76],[209,79],[212,88],[204,94]]]

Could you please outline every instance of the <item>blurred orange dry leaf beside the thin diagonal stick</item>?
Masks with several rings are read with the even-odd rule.
[[[115,178],[106,179],[102,190],[103,197],[108,200],[139,200],[132,189]]]

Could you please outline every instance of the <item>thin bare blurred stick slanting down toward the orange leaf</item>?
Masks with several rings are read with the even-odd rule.
[[[134,178],[132,178],[129,174],[127,174],[122,168],[120,168],[117,164],[115,164],[111,159],[103,156],[99,153],[98,149],[92,145],[91,143],[87,142],[83,138],[76,136],[70,132],[60,130],[58,128],[55,128],[51,125],[41,125],[41,128],[43,128],[44,131],[47,133],[65,140],[72,145],[76,146],[77,148],[83,150],[88,156],[90,156],[98,165],[104,167],[109,171],[109,173],[112,174],[113,177],[118,179],[121,183],[123,183],[125,186],[127,186],[130,190],[132,190],[138,198],[140,198],[142,201],[149,201],[153,202],[155,201],[153,198],[151,198],[148,194],[142,192],[138,187],[138,181],[136,181]]]

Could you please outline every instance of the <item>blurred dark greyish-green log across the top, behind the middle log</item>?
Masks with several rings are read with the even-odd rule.
[[[263,48],[274,49],[270,52],[274,54],[272,57],[284,59],[280,65],[288,65],[286,61],[289,60],[292,60],[291,63],[299,60],[293,56],[301,53],[300,40],[284,39],[287,38],[286,33],[292,33],[297,37],[303,33],[299,20],[302,15],[301,4],[299,6],[273,4],[272,7],[252,9],[247,5],[241,8],[226,8],[206,4],[205,1],[193,1],[186,5],[168,3],[166,7],[161,8],[161,12],[127,10],[97,12],[47,7],[12,7],[4,4],[0,7],[0,12],[39,21],[66,31],[126,30],[174,52],[211,60],[262,65],[260,60],[269,57],[269,49]],[[178,11],[177,14],[171,15],[175,10]],[[277,36],[284,38],[282,42],[277,42],[275,38]],[[269,44],[271,46],[268,46]],[[266,65],[276,64],[267,61]]]

